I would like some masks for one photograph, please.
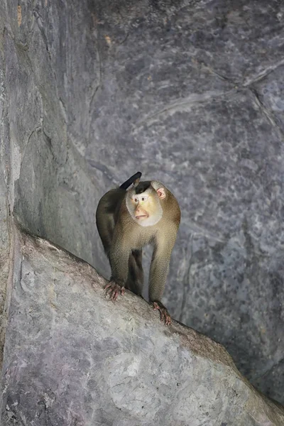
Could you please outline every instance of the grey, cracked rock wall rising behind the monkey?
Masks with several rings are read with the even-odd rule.
[[[164,182],[182,209],[165,305],[284,402],[283,2],[0,3],[18,221],[107,273],[99,198],[137,170]]]

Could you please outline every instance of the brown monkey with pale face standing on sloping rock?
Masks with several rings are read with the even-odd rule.
[[[97,229],[111,266],[111,278],[105,289],[111,300],[124,295],[125,288],[141,295],[142,248],[152,244],[149,300],[153,309],[160,311],[160,320],[168,325],[171,318],[160,299],[180,225],[180,206],[163,183],[140,182],[141,175],[136,173],[99,200]]]

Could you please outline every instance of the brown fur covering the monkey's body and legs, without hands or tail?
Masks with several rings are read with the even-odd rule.
[[[143,182],[139,185],[141,184]],[[163,216],[157,224],[141,226],[136,223],[135,217],[134,219],[131,217],[126,206],[126,198],[135,190],[132,192],[131,190],[126,192],[121,188],[110,190],[99,201],[96,213],[99,236],[111,264],[111,280],[121,287],[125,286],[134,293],[141,294],[143,286],[141,249],[146,244],[153,244],[149,278],[151,302],[160,302],[163,295],[170,255],[180,224],[180,207],[177,200],[163,184],[160,185],[165,192],[163,200],[159,199],[152,185],[146,190],[151,209],[153,203],[155,206],[158,202],[163,209]]]

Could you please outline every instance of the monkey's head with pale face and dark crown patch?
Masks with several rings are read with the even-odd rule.
[[[153,226],[163,216],[160,200],[165,197],[165,187],[157,180],[139,182],[127,192],[126,207],[137,224]]]

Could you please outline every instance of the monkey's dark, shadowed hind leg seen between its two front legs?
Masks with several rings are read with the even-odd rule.
[[[144,274],[142,267],[142,250],[133,250],[129,256],[129,275],[126,288],[136,295],[141,296],[143,290]]]

